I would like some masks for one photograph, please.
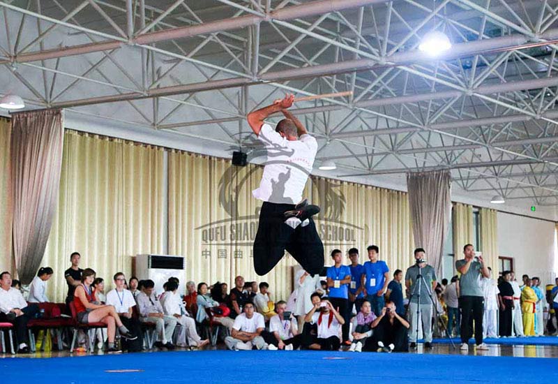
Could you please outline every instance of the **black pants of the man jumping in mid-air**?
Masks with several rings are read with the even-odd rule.
[[[311,275],[324,269],[324,244],[312,218],[308,226],[293,229],[285,224],[285,212],[292,204],[264,202],[254,241],[254,268],[259,276],[268,273],[285,256],[285,250]]]

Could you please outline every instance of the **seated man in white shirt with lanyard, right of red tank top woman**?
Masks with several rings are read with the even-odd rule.
[[[136,279],[137,281],[137,279]],[[137,352],[142,350],[143,334],[142,327],[140,325],[140,320],[134,318],[133,307],[135,307],[134,295],[125,288],[126,276],[122,272],[114,274],[114,286],[113,290],[107,293],[107,305],[112,305],[120,320],[128,330],[133,334],[137,335],[139,340],[129,341],[128,339],[123,340],[123,349],[129,352]]]

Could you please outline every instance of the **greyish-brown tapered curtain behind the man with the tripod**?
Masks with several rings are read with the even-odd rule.
[[[416,247],[442,275],[442,253],[451,215],[451,175],[448,170],[407,174],[407,191]]]

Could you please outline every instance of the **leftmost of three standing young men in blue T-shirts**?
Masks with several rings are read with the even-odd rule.
[[[331,251],[331,258],[335,263],[327,269],[327,286],[329,287],[329,301],[345,320],[342,325],[342,343],[349,346],[349,284],[351,283],[351,269],[342,265],[342,252],[340,249]]]

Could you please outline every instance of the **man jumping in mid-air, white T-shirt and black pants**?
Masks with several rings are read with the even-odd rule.
[[[285,96],[248,114],[248,124],[267,153],[262,182],[252,191],[264,202],[254,242],[254,267],[260,276],[279,263],[285,249],[309,274],[319,274],[324,268],[324,244],[311,217],[319,207],[308,205],[306,199],[301,201],[318,145],[299,119],[287,111],[293,101],[294,96]],[[286,119],[273,130],[264,119],[275,112],[282,112]]]

